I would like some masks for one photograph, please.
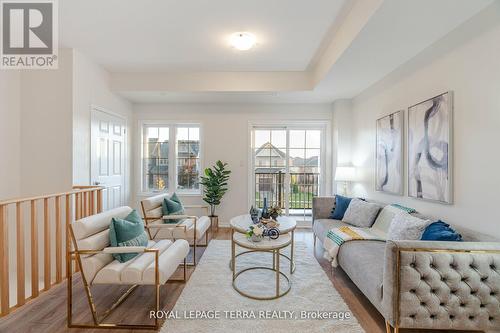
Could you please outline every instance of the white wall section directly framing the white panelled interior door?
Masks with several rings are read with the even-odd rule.
[[[73,86],[73,184],[91,185],[90,116],[92,107],[99,107],[125,118],[129,127],[132,120],[132,106],[128,101],[111,92],[109,73],[77,50],[74,52]],[[127,203],[130,192],[131,132],[127,128],[129,142],[125,168],[125,193],[127,195],[125,202]]]

